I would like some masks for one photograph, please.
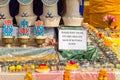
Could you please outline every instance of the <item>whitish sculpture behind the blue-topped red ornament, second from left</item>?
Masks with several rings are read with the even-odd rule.
[[[27,20],[29,26],[34,25],[37,16],[33,13],[33,0],[18,0],[20,3],[19,14],[16,16],[17,25],[22,20]]]

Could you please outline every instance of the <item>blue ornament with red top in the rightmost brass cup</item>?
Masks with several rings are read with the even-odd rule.
[[[44,26],[43,26],[42,21],[35,22],[34,35],[35,36],[43,36],[44,35]]]

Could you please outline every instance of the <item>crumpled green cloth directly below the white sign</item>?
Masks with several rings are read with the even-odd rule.
[[[81,59],[87,60],[98,60],[98,48],[95,46],[88,46],[87,51],[82,50],[63,50],[61,54],[59,54],[59,58],[61,60],[70,60],[75,59],[77,61]]]

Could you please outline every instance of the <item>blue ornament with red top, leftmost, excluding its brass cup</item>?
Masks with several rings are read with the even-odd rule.
[[[7,20],[4,22],[3,36],[13,36],[13,22],[12,22],[12,20]]]

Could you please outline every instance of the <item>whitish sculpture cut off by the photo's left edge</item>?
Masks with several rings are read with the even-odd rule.
[[[0,0],[0,26],[3,26],[4,21],[12,20],[9,13],[10,0]]]

